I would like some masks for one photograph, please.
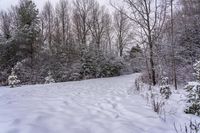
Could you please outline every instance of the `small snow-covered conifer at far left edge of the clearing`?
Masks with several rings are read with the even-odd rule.
[[[15,74],[15,70],[12,69],[11,75],[8,77],[8,84],[10,87],[15,87],[20,83],[20,80],[18,79],[17,75]]]

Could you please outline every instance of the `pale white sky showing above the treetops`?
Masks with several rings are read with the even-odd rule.
[[[33,0],[33,1],[37,4],[37,7],[39,9],[42,9],[44,3],[47,0]],[[59,0],[49,0],[49,1],[51,1],[51,3],[55,5]],[[99,1],[100,4],[106,5],[106,7],[109,6],[109,0],[97,0],[97,1]],[[17,3],[18,0],[0,0],[0,10],[7,10],[10,8],[11,5],[16,5]]]

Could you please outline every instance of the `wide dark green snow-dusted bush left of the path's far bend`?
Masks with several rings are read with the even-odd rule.
[[[83,79],[119,76],[123,68],[123,61],[115,57],[88,52],[81,59],[80,74]]]

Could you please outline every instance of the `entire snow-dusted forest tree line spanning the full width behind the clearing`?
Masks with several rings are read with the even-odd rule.
[[[198,0],[47,1],[39,11],[20,0],[0,19],[0,82],[14,69],[24,84],[118,76],[143,71],[155,85],[164,76],[177,87],[194,77],[199,60]]]

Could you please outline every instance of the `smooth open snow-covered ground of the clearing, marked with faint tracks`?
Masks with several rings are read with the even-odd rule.
[[[175,133],[174,121],[192,117],[178,112],[179,94],[165,122],[131,93],[138,76],[1,87],[0,133]]]

